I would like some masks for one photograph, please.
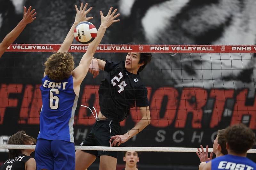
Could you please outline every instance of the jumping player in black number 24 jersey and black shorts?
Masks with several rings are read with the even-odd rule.
[[[99,69],[108,72],[100,84],[100,113],[92,131],[82,142],[84,146],[119,146],[138,134],[150,123],[148,91],[139,72],[151,61],[151,53],[130,52],[125,62],[114,63],[93,58],[89,71],[96,77]],[[131,107],[139,107],[141,120],[124,135],[120,123],[130,113]],[[117,152],[76,151],[76,169],[88,168],[100,157],[100,170],[116,169]]]

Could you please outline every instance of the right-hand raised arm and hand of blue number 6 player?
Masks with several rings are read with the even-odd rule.
[[[92,61],[92,57],[102,40],[106,29],[111,26],[114,22],[120,21],[116,19],[120,14],[115,15],[117,9],[112,12],[112,7],[108,11],[108,15],[106,17],[103,16],[102,11],[100,11],[101,25],[97,32],[97,37],[92,41],[92,43],[88,46],[86,53],[83,55],[79,65],[72,71],[72,76],[74,79],[74,87],[79,86],[85,78],[89,65]],[[112,13],[111,13],[112,12]],[[115,15],[115,16],[114,16]]]

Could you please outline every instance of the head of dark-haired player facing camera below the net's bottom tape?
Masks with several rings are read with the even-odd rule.
[[[123,160],[125,162],[125,168],[122,170],[139,170],[137,168],[137,163],[140,161],[138,152],[135,152],[135,151],[124,152]]]

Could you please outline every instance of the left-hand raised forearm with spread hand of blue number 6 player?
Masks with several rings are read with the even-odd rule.
[[[92,10],[92,7],[89,8],[87,11],[86,10],[86,7],[88,6],[88,4],[86,3],[84,5],[84,8],[83,8],[83,5],[84,3],[81,3],[81,6],[80,6],[80,10],[78,10],[77,6],[76,7],[76,19],[75,19],[75,22],[74,24],[72,25],[72,27],[70,28],[65,40],[63,41],[60,49],[58,50],[58,52],[68,52],[70,46],[71,46],[71,43],[73,42],[74,40],[74,30],[77,26],[77,24],[79,24],[80,22],[83,22],[83,21],[88,21],[90,19],[92,19],[93,17],[86,17],[86,15]]]

